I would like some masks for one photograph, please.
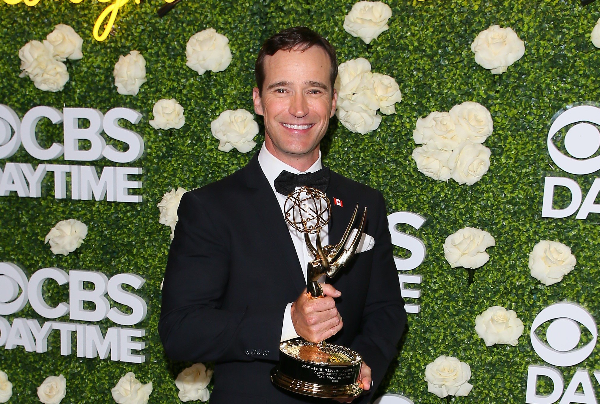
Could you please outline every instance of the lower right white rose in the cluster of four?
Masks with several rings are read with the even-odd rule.
[[[473,185],[490,168],[490,149],[470,141],[461,143],[448,158],[452,179],[461,184]]]

